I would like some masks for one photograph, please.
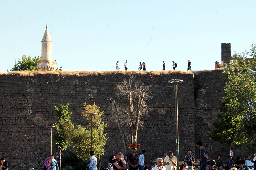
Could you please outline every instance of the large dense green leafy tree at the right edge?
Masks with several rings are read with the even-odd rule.
[[[224,65],[223,76],[228,80],[214,130],[213,141],[243,144],[244,149],[256,152],[256,44],[247,52],[235,53],[234,63]]]

